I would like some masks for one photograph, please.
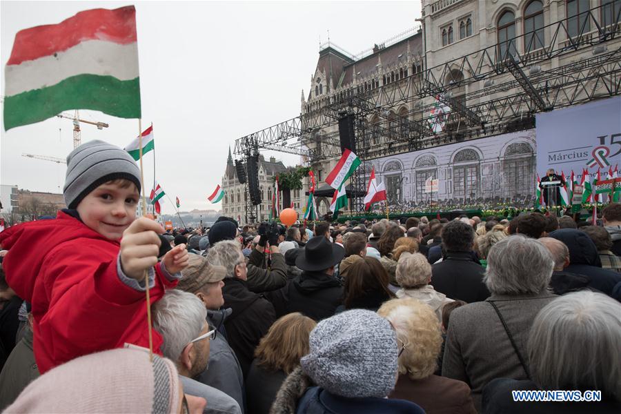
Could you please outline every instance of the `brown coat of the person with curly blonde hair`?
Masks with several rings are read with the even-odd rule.
[[[400,374],[388,398],[415,402],[427,414],[476,414],[470,387],[462,381],[429,375],[422,380],[412,380]]]

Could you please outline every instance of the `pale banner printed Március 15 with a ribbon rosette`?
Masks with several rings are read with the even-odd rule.
[[[537,172],[548,168],[602,177],[621,168],[621,97],[537,114]]]

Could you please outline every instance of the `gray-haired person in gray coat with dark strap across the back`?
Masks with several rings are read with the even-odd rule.
[[[526,341],[535,316],[557,297],[547,289],[553,266],[538,240],[507,237],[487,256],[484,282],[491,297],[451,313],[442,376],[469,384],[478,410],[491,380],[529,379]]]

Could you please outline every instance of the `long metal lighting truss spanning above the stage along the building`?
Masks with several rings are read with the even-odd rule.
[[[259,150],[275,150],[306,157],[313,166],[341,155],[338,131],[322,131],[337,125],[343,115],[354,115],[356,154],[366,161],[533,128],[537,112],[620,95],[621,9],[610,24],[602,26],[601,8],[585,12],[591,27],[587,30],[582,24],[573,36],[566,20],[558,21],[541,30],[551,33],[545,43],[539,31],[522,34],[372,90],[353,86],[331,95],[328,104],[319,108],[309,103],[311,109],[299,117],[237,139],[235,154],[246,159]],[[516,45],[522,44],[524,50],[520,52]],[[535,49],[534,45],[544,46]],[[592,53],[585,54],[589,48]],[[553,59],[569,60],[573,55],[576,59],[549,68]],[[444,85],[453,70],[459,70],[462,79]],[[472,91],[453,97],[458,88],[473,83],[478,85]],[[447,128],[439,134],[431,130],[434,119],[427,114],[435,102],[427,99],[429,102],[424,103],[428,97],[451,108]],[[408,108],[405,114],[391,112],[401,106]],[[368,119],[374,115],[391,122],[369,125]],[[352,186],[366,191],[366,175],[365,168],[358,168]],[[248,197],[248,184],[246,193],[246,220],[254,221],[255,206]],[[353,209],[363,211],[361,198],[353,200]]]

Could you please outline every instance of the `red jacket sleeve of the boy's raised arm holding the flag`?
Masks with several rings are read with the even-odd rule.
[[[117,246],[100,242],[76,248],[75,244],[66,244],[51,253],[33,297],[37,342],[45,348],[35,349],[35,353],[45,353],[44,359],[56,366],[80,355],[122,346],[123,342],[136,343],[144,337],[145,293],[119,279]],[[166,280],[159,266],[156,273],[155,286],[150,289],[151,303],[164,295],[167,286],[175,285]]]

